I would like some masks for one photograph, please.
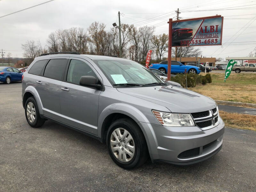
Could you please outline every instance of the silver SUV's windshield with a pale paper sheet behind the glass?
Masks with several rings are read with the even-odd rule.
[[[165,84],[153,72],[132,60],[93,60],[112,85],[141,86]]]

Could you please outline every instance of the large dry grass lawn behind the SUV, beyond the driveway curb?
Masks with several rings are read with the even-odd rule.
[[[224,73],[212,73],[211,76],[211,84],[189,89],[214,100],[256,103],[256,73],[232,73],[226,82]]]

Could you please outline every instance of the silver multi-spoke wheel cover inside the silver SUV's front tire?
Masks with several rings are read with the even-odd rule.
[[[132,160],[135,153],[135,144],[130,132],[124,128],[115,129],[110,137],[110,146],[114,156],[122,162]]]

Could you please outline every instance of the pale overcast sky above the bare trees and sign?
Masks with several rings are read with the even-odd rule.
[[[0,17],[45,1],[47,0],[0,0]],[[5,56],[11,52],[13,57],[23,57],[21,44],[27,40],[40,40],[44,46],[49,33],[59,28],[88,28],[92,22],[99,21],[105,23],[106,30],[109,30],[113,22],[118,23],[118,11],[123,13],[121,15],[122,23],[134,23],[138,27],[155,25],[155,34],[168,33],[168,24],[165,21],[175,17],[173,12],[177,8],[180,9],[182,19],[216,14],[224,16],[223,46],[201,47],[203,56],[245,57],[253,50],[255,55],[256,1],[252,0],[54,0],[0,18],[0,49],[6,50]],[[235,10],[194,11],[210,9]],[[147,20],[153,17],[156,17],[154,21]],[[233,43],[227,46],[232,41]]]

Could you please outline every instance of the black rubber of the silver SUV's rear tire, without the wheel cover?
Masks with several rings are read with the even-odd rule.
[[[33,103],[34,107],[35,107],[35,110],[36,110],[36,115],[35,115],[35,120],[33,123],[31,123],[29,120],[28,120],[28,116],[27,116],[27,107],[28,107],[28,103],[31,102]],[[38,106],[37,106],[37,103],[36,103],[36,99],[34,97],[29,97],[26,101],[26,104],[25,104],[25,116],[26,116],[26,119],[27,119],[27,122],[28,124],[31,126],[31,127],[34,127],[34,128],[37,128],[37,127],[41,127],[44,122],[45,122],[45,119],[42,119],[40,117],[40,114],[39,114],[39,111],[38,111]]]

